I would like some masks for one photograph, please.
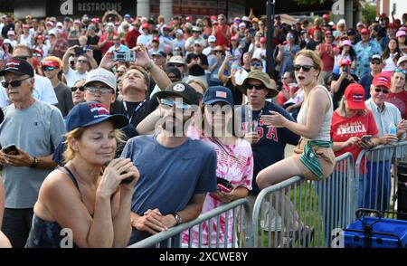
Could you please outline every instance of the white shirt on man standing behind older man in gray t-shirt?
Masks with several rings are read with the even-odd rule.
[[[56,98],[51,81],[37,74],[34,75],[34,79],[33,98],[49,104],[57,104],[58,99]],[[5,108],[9,104],[7,92],[5,92],[5,88],[0,85],[0,108]]]

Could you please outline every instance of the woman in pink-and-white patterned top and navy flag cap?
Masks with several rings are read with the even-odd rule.
[[[205,128],[197,128],[195,132],[202,132],[190,138],[200,138],[216,150],[218,177],[218,191],[207,194],[204,201],[202,214],[213,210],[222,204],[228,204],[234,200],[244,198],[251,190],[251,179],[253,176],[253,154],[249,142],[237,138],[232,132],[233,119],[233,96],[232,91],[222,86],[210,87],[204,94],[204,125]],[[222,112],[221,112],[222,109]],[[195,126],[197,123],[195,123]],[[209,127],[207,127],[209,126]],[[191,135],[190,131],[190,135]],[[220,185],[221,181],[224,184]],[[183,233],[183,245],[187,246],[192,238],[192,247],[199,246],[199,235],[201,235],[200,247],[214,247],[216,242],[224,247],[237,247],[236,228],[233,224],[233,212],[221,214],[219,219],[205,221],[202,232],[199,226]],[[219,233],[217,233],[219,231]],[[212,232],[211,236],[209,232]],[[234,240],[234,241],[233,241]]]

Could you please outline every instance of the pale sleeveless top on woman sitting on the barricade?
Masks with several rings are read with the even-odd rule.
[[[309,139],[309,140],[327,140],[327,141],[330,141],[331,140],[331,135],[330,135],[331,120],[332,120],[332,115],[334,113],[334,104],[333,104],[333,101],[332,101],[332,97],[331,97],[329,91],[327,90],[327,88],[325,88],[324,86],[321,86],[321,85],[318,85],[317,87],[323,88],[323,90],[327,92],[327,96],[329,98],[330,106],[329,106],[329,109],[325,113],[324,121],[323,121],[323,123],[321,125],[321,128],[319,128],[319,131],[317,133],[316,138]],[[297,117],[298,124],[305,125],[307,123],[308,99],[309,99],[309,95],[308,95],[307,99],[305,99],[304,102],[302,103],[301,109],[299,109],[298,117]]]

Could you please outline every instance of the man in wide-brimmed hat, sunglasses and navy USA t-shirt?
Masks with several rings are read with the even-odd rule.
[[[270,115],[270,111],[277,111],[290,121],[294,121],[285,109],[266,100],[266,98],[272,98],[279,93],[276,82],[271,80],[267,73],[251,71],[238,88],[247,95],[249,100],[247,105],[236,110],[236,115],[241,115],[242,133],[244,133],[244,138],[251,143],[254,157],[253,176],[257,176],[262,169],[282,160],[286,145],[297,145],[299,137],[287,128],[267,127],[260,121],[260,117]],[[255,178],[253,178],[251,185],[252,190],[248,199],[254,205],[260,188]],[[274,222],[275,219],[272,221]],[[264,228],[267,227],[267,225],[264,226]]]

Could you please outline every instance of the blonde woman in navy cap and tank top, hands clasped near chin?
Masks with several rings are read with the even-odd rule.
[[[67,117],[66,165],[46,177],[26,246],[126,247],[130,204],[139,177],[129,159],[113,159],[122,115],[83,102]]]

